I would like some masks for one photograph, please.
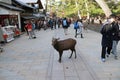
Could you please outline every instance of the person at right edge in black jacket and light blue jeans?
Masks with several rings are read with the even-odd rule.
[[[116,15],[111,15],[111,18],[113,20],[112,22],[112,38],[113,38],[113,44],[112,44],[112,53],[114,54],[114,58],[117,60],[117,45],[118,41],[120,40],[120,19],[116,17]]]

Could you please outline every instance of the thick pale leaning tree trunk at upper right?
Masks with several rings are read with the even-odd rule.
[[[112,14],[111,10],[109,9],[108,5],[105,3],[104,0],[95,0],[95,1],[100,5],[106,17],[109,17],[110,14]]]

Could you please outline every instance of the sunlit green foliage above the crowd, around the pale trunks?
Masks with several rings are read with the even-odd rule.
[[[77,6],[75,4],[77,1]],[[120,13],[120,2],[115,3],[114,1],[105,0],[113,13]],[[88,11],[86,9],[86,4],[88,5]],[[59,2],[52,2],[51,11],[57,13],[57,16],[63,17],[74,17],[78,15],[78,10],[81,16],[87,16],[87,12],[91,16],[103,15],[104,12],[95,0],[61,0]],[[64,15],[62,14],[64,12]]]

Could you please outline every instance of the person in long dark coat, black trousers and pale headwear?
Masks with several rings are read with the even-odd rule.
[[[102,62],[106,61],[106,53],[110,55],[111,49],[112,49],[112,19],[109,19],[109,21],[105,22],[100,30],[100,33],[102,34],[102,52],[101,52],[101,60]]]

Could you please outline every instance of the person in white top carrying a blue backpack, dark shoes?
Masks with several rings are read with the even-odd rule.
[[[77,20],[74,23],[74,29],[75,29],[75,38],[77,38],[77,35],[81,35],[81,38],[83,38],[83,34],[82,34],[82,29],[83,29],[83,24],[82,24],[82,20]]]

